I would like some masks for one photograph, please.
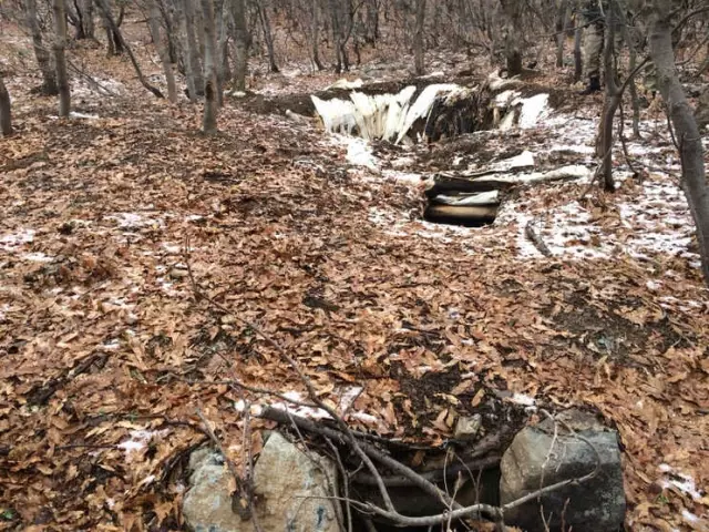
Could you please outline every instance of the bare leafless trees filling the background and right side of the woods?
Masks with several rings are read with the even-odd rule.
[[[637,74],[654,65],[682,162],[682,184],[697,222],[703,273],[709,282],[709,191],[699,130],[687,103],[677,65],[699,79],[709,72],[709,0],[597,0],[605,32],[606,98],[597,155],[600,184],[613,190],[614,116],[626,91],[637,129]],[[486,55],[508,75],[544,64],[555,49],[556,66],[582,75],[580,43],[588,21],[578,16],[587,0],[9,0],[0,16],[22,24],[31,37],[43,94],[59,96],[59,114],[69,115],[66,70],[70,39],[92,39],[107,55],[126,54],[141,83],[162,91],[143,75],[123,35],[126,12],[142,13],[162,62],[167,98],[177,100],[175,74],[192,101],[204,102],[203,129],[217,130],[226,89],[247,88],[249,58],[271,72],[305,52],[311,69],[349,70],[377,53],[410,54],[412,71],[427,70],[427,50]],[[619,20],[616,24],[613,20]],[[101,31],[96,30],[96,22]],[[597,21],[596,21],[597,22]],[[614,34],[619,32],[620,35]],[[617,39],[620,37],[621,39]],[[567,47],[572,41],[573,45]],[[623,49],[618,49],[623,42]],[[368,55],[369,54],[369,55]],[[251,64],[254,64],[251,62]],[[618,66],[620,65],[620,66]],[[0,124],[12,131],[10,99],[0,72]],[[684,80],[687,81],[687,80]]]

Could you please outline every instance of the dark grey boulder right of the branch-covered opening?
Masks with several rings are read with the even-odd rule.
[[[598,474],[582,484],[569,484],[542,498],[544,514],[552,514],[551,530],[561,530],[562,514],[566,529],[574,532],[619,530],[625,516],[625,491],[618,434],[598,423],[593,416],[569,410],[565,421],[584,436],[598,452]],[[548,421],[520,431],[502,458],[501,503],[515,501],[542,485],[583,477],[596,467],[597,456],[588,443],[568,436],[559,427],[553,452],[553,424]],[[548,457],[548,461],[547,461]],[[564,505],[568,505],[564,511]],[[527,532],[544,531],[536,499],[505,512],[505,523]]]

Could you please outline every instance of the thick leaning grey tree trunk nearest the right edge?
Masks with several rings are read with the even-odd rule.
[[[682,190],[697,228],[697,244],[701,257],[701,270],[709,284],[709,190],[705,167],[701,135],[697,127],[691,106],[685,95],[672,50],[672,28],[670,25],[670,0],[654,0],[649,14],[649,49],[657,70],[657,84],[667,104],[679,143],[682,165]]]

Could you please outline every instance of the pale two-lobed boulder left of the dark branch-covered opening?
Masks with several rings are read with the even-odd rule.
[[[251,532],[250,520],[232,511],[230,472],[220,454],[195,451],[189,459],[191,488],[183,503],[196,532]],[[327,477],[326,477],[327,474]],[[328,480],[329,479],[329,480]],[[264,532],[338,532],[338,470],[331,461],[308,454],[274,432],[254,468],[256,515]]]

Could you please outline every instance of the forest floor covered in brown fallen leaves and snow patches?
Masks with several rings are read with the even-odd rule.
[[[643,180],[618,153],[614,194],[520,187],[495,224],[449,227],[421,219],[421,174],[525,150],[542,168],[593,170],[600,96],[538,74],[562,98],[535,126],[371,153],[229,99],[205,137],[199,105],[153,99],[90,47],[72,53],[116,95],[75,75],[79,114],[59,120],[29,93],[27,40],[3,39],[17,134],[0,140],[0,530],[179,529],[175,470],[205,440],[196,410],[238,462],[240,401],[276,401],[214,381],[306,397],[243,319],[384,437],[441,444],[479,411],[490,433],[501,397],[518,422],[594,409],[620,434],[627,526],[707,530],[709,293],[653,105],[629,144]],[[336,80],[290,69],[253,89]],[[348,160],[358,150],[364,165]],[[553,257],[525,239],[528,221]]]

